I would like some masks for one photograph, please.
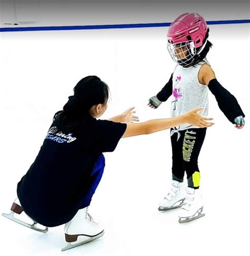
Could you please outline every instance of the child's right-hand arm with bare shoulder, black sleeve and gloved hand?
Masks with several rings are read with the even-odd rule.
[[[243,113],[241,106],[239,106],[237,99],[234,95],[230,94],[227,89],[220,85],[210,66],[204,65],[200,71],[201,82],[206,84],[211,93],[214,94],[220,110],[231,123],[235,124],[237,129],[242,129],[245,124],[245,114]]]

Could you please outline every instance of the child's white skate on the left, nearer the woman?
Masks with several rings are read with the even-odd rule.
[[[159,211],[167,211],[181,207],[185,200],[185,184],[177,180],[172,180],[171,190],[159,203]]]

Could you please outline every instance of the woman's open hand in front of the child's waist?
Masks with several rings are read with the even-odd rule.
[[[198,127],[209,127],[214,125],[214,123],[206,122],[207,120],[213,120],[213,118],[209,118],[198,113],[202,109],[202,107],[197,107],[191,111],[186,112],[184,116],[187,120],[187,123]]]

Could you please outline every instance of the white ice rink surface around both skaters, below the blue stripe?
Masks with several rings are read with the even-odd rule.
[[[0,213],[44,140],[53,114],[84,76],[110,87],[103,118],[136,107],[140,121],[169,117],[170,102],[152,110],[148,98],[168,81],[175,63],[167,28],[1,33]],[[171,178],[169,131],[121,139],[106,153],[90,213],[105,228],[100,240],[64,255],[249,255],[249,24],[210,26],[208,60],[245,115],[237,130],[209,94],[215,125],[199,157],[206,216],[179,224],[178,209],[158,212]],[[63,159],[62,159],[63,161]],[[63,226],[46,234],[0,217],[2,255],[62,255]]]

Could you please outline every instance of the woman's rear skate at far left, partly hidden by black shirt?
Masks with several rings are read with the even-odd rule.
[[[16,218],[15,217],[16,214],[19,214],[20,218]],[[9,220],[19,223],[25,227],[29,227],[32,230],[43,232],[43,233],[46,233],[48,231],[47,227],[44,227],[43,225],[40,225],[39,223],[33,221],[32,218],[30,218],[27,214],[25,214],[18,198],[16,198],[15,202],[12,204],[11,213],[9,214],[3,213],[2,215],[8,218]],[[21,218],[25,218],[25,221],[21,220]]]

